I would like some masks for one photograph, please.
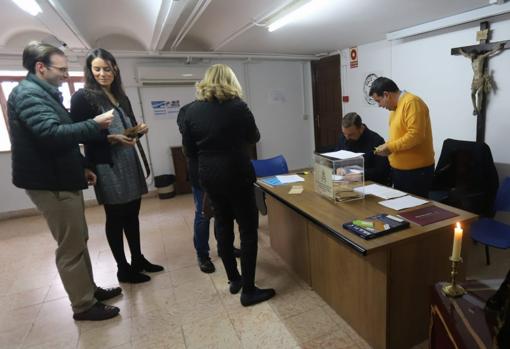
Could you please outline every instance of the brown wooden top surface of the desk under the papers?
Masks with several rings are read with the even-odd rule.
[[[399,212],[405,212],[415,208],[395,211],[378,204],[379,201],[383,201],[384,199],[373,195],[365,196],[364,199],[335,203],[314,191],[313,173],[310,172],[309,174],[302,175],[302,177],[305,178],[305,182],[279,185],[275,187],[268,186],[261,181],[258,181],[257,184],[266,193],[289,206],[293,210],[301,213],[303,216],[309,218],[314,223],[329,231],[334,237],[343,241],[362,254],[373,253],[381,248],[389,248],[395,244],[408,241],[409,239],[419,238],[424,234],[434,233],[438,229],[447,226],[452,227],[451,231],[453,240],[453,226],[456,222],[461,222],[463,227],[467,228],[468,225],[477,218],[477,215],[473,213],[438,202],[433,202],[434,205],[454,212],[458,214],[458,216],[426,226],[420,226],[416,223],[410,222],[411,226],[408,229],[393,232],[375,239],[365,240],[354,233],[345,230],[342,227],[342,224],[354,219],[363,219],[380,213],[397,215]],[[371,182],[368,182],[366,184],[370,183]],[[303,193],[297,195],[289,194],[288,192],[292,185],[302,185],[304,188]],[[420,207],[424,207],[426,205],[432,205],[432,201]]]

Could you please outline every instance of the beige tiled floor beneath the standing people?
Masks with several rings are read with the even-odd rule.
[[[87,220],[96,283],[115,286],[102,208],[88,208]],[[277,295],[248,308],[228,292],[215,247],[217,271],[198,269],[192,222],[191,195],[144,199],[142,250],[166,270],[145,284],[123,284],[123,295],[111,302],[121,316],[94,323],[72,320],[54,264],[56,245],[42,217],[0,221],[0,348],[369,348],[271,250],[265,217],[256,280]],[[210,242],[215,246],[212,236]],[[493,252],[496,267],[486,268],[481,247],[473,248],[479,254],[473,259],[475,276],[501,277],[508,270],[501,251]]]

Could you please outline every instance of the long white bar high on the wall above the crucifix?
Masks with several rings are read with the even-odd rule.
[[[475,22],[489,17],[499,16],[508,12],[510,12],[510,2],[507,2],[502,5],[499,4],[489,5],[475,10],[460,13],[458,15],[441,18],[428,23],[419,24],[414,27],[409,27],[402,30],[387,33],[386,40],[391,41],[404,39],[410,36],[428,33],[434,30],[453,27],[455,25],[460,25],[469,22]]]

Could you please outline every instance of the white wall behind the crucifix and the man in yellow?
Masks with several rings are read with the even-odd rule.
[[[492,41],[510,39],[510,16],[489,20]],[[401,89],[420,96],[429,106],[436,160],[446,138],[475,140],[476,117],[472,115],[471,62],[463,56],[452,56],[454,47],[476,44],[479,24],[462,26],[424,34],[418,37],[387,42],[381,41],[358,47],[359,67],[345,66],[343,91],[350,96],[344,103],[344,112],[358,112],[367,125],[383,137],[388,135],[388,112],[370,107],[361,91],[367,72],[376,72],[392,78]],[[342,57],[348,58],[348,50]],[[490,146],[500,176],[508,176],[510,164],[510,50],[493,57],[489,68],[494,73],[497,91],[490,95],[487,108],[485,141]],[[348,64],[345,59],[344,63]]]

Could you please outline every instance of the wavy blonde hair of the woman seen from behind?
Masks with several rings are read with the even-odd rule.
[[[217,99],[220,102],[242,98],[243,88],[234,71],[226,64],[214,64],[205,72],[202,81],[196,84],[197,99],[200,101],[212,101]]]

